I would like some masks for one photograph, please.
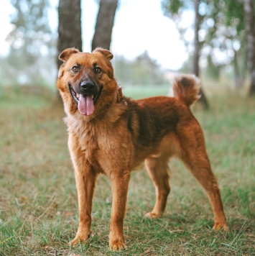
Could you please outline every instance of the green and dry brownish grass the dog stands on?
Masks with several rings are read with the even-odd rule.
[[[149,96],[148,89],[136,89],[136,97],[144,90]],[[135,96],[132,88],[124,92]],[[68,246],[78,227],[78,203],[64,113],[54,98],[42,88],[0,91],[0,255],[255,255],[254,100],[217,97],[210,99],[209,111],[193,107],[229,232],[211,230],[208,198],[173,160],[172,191],[161,219],[144,218],[154,204],[154,187],[145,171],[132,173],[124,225],[128,250],[113,253],[108,250],[111,184],[103,175],[93,200],[94,235]]]

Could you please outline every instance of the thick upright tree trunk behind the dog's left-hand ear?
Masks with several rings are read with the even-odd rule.
[[[60,0],[58,5],[58,54],[66,48],[83,50],[80,24],[80,0]],[[57,55],[58,56],[58,55]],[[57,58],[57,68],[61,65]]]

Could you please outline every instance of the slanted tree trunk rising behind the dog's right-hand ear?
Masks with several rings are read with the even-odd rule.
[[[100,0],[91,50],[94,50],[96,47],[110,50],[111,32],[117,5],[118,0]]]

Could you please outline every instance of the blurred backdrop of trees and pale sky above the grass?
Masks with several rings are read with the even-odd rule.
[[[202,79],[205,108],[210,94],[255,94],[252,0],[8,0],[0,17],[1,87],[54,91],[62,50],[100,46],[124,88],[167,93],[185,72]]]

